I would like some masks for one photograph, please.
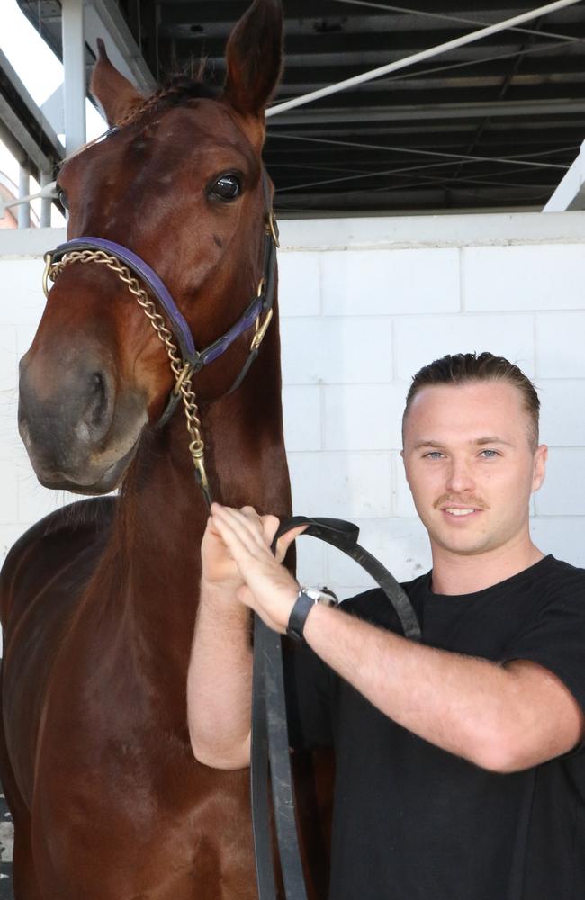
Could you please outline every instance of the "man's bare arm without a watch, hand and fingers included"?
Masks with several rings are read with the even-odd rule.
[[[253,523],[261,536],[258,539],[269,547],[278,519],[261,518],[251,507],[238,514]],[[279,541],[278,559],[284,559],[288,545],[302,530],[297,528]],[[281,583],[298,590],[292,575],[267,552]],[[201,595],[187,673],[187,719],[195,758],[215,769],[241,769],[250,759],[252,649],[250,610],[238,600],[243,585],[238,565],[211,515],[202,541]]]

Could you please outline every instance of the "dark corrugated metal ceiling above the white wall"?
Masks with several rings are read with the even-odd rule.
[[[56,0],[19,0],[60,51]],[[159,81],[223,49],[246,0],[120,0]],[[535,4],[284,0],[276,101],[499,22]],[[88,60],[90,62],[91,60]],[[585,4],[268,121],[276,208],[291,214],[539,209],[585,138]]]

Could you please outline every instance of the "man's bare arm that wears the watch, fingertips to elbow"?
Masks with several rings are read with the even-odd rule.
[[[238,599],[284,632],[294,585],[282,579],[253,522],[226,508],[218,508],[214,518],[246,581]],[[527,769],[581,740],[581,707],[534,662],[500,665],[436,650],[320,605],[311,609],[304,635],[321,659],[386,716],[484,769]]]

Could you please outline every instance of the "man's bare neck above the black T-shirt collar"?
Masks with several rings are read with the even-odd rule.
[[[520,545],[478,554],[456,554],[432,546],[432,590],[436,594],[472,594],[506,581],[538,563],[544,555],[528,538]]]

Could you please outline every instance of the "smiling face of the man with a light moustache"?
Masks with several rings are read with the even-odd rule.
[[[522,394],[506,382],[433,385],[404,422],[404,466],[433,550],[482,554],[529,539],[528,502],[545,478]]]

